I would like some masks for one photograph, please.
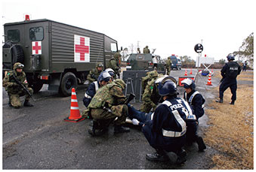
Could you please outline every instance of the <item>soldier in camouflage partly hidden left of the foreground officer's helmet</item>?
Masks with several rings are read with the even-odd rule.
[[[151,77],[151,79],[147,82],[147,86],[143,92],[142,101],[143,104],[140,107],[140,111],[149,113],[150,110],[156,109],[156,105],[158,104],[160,95],[158,94],[158,90],[155,85],[155,81],[159,78],[163,77],[162,74],[158,74],[157,72]]]

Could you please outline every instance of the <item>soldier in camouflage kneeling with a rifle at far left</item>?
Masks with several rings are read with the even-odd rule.
[[[23,95],[26,95],[25,102],[23,104],[24,107],[32,107],[33,105],[29,103],[29,95],[26,93],[25,90],[21,88],[21,86],[16,83],[14,80],[15,76],[17,80],[20,81],[26,88],[29,90],[29,92],[33,93],[33,90],[31,88],[28,88],[28,83],[26,81],[26,74],[23,72],[24,65],[20,62],[17,62],[14,64],[14,71],[8,71],[6,74],[4,80],[3,80],[3,86],[5,87],[5,90],[8,92],[9,96],[9,106],[14,108],[20,108],[20,97]]]

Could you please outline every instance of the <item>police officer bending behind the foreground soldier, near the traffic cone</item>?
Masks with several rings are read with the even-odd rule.
[[[88,107],[88,105],[91,102],[91,99],[94,97],[100,86],[106,85],[107,83],[109,83],[109,80],[112,80],[111,75],[109,74],[109,72],[103,71],[100,73],[97,81],[94,81],[88,86],[88,89],[85,92],[85,97],[82,99],[82,101],[85,104],[85,107]]]

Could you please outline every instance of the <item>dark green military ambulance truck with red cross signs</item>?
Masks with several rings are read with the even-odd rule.
[[[3,71],[23,63],[34,92],[47,83],[49,90],[68,96],[73,87],[85,83],[97,62],[106,66],[118,50],[113,38],[52,20],[6,23],[4,30]]]

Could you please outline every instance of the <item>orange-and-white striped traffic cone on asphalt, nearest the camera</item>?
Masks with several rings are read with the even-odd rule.
[[[76,98],[76,91],[74,88],[72,88],[70,116],[65,118],[64,121],[79,122],[79,121],[82,121],[83,119],[85,118],[83,118],[80,114],[79,103]]]

